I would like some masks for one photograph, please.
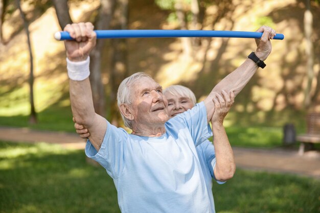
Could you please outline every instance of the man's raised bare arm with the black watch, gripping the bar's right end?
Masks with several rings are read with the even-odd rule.
[[[271,42],[270,39],[276,35],[275,30],[269,27],[262,26],[257,32],[262,32],[262,37],[260,39],[255,39],[257,43],[257,50],[255,51],[256,56],[264,61],[271,52]],[[222,94],[222,90],[230,93],[234,92],[235,96],[243,89],[243,87],[249,82],[253,75],[258,70],[258,65],[252,59],[246,59],[238,68],[236,68],[232,73],[227,75],[222,79],[210,92],[209,96],[205,98],[204,104],[207,108],[207,118],[208,123],[214,112],[214,102],[215,92]]]

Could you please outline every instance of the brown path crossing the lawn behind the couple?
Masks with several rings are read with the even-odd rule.
[[[0,127],[0,138],[24,143],[53,143],[68,149],[84,149],[85,140],[76,133]],[[297,150],[246,149],[234,147],[238,168],[292,173],[320,179],[320,152],[310,151],[303,156]]]

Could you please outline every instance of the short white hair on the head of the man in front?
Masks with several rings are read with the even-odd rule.
[[[133,85],[133,83],[135,81],[137,81],[143,77],[151,78],[151,76],[149,76],[148,74],[143,73],[143,72],[135,73],[135,74],[125,78],[121,82],[121,84],[119,85],[119,88],[118,88],[118,92],[117,92],[118,108],[121,113],[121,117],[124,122],[124,125],[126,127],[129,127],[130,129],[132,129],[132,121],[126,119],[126,117],[122,114],[122,112],[120,110],[120,105],[121,104],[128,104],[128,105],[132,104],[131,92],[130,92],[130,90],[132,89],[131,86]]]

